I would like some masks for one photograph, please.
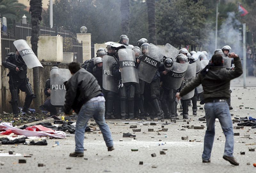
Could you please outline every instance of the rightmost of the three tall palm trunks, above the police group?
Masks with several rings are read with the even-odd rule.
[[[155,0],[146,0],[148,6],[148,34],[149,43],[157,44],[156,42],[156,18],[155,18]]]

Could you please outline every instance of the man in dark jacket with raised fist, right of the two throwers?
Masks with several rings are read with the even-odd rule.
[[[202,159],[204,163],[211,162],[211,151],[215,135],[215,119],[218,118],[226,137],[225,151],[223,159],[233,165],[239,165],[233,157],[234,132],[231,115],[227,100],[230,98],[230,80],[243,74],[240,58],[235,53],[230,53],[229,58],[234,58],[235,70],[226,70],[223,67],[224,61],[221,54],[212,56],[212,63],[207,65],[198,76],[188,83],[176,97],[180,99],[188,92],[202,84],[204,89],[203,98],[205,100],[205,118],[207,130],[204,136],[204,152]]]

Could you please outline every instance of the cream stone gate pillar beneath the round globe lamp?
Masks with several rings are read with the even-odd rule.
[[[91,34],[90,33],[78,33],[76,39],[79,43],[83,42],[83,62],[91,59]]]

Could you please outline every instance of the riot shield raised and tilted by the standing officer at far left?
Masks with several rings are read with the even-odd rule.
[[[13,42],[13,44],[19,51],[20,56],[22,57],[28,68],[43,67],[32,49],[29,47],[26,40],[16,40]]]

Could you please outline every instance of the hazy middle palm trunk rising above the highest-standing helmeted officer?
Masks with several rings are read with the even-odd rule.
[[[121,26],[122,26],[122,34],[128,34],[129,32],[129,22],[130,22],[130,1],[129,0],[121,0]]]

